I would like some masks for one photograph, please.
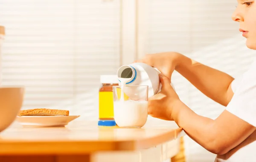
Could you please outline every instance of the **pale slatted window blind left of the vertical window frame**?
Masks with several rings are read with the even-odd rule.
[[[92,115],[99,75],[120,66],[119,12],[119,0],[0,0],[3,85],[26,87],[22,109]]]

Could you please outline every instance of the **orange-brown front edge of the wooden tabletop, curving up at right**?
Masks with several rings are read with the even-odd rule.
[[[90,154],[96,151],[136,151],[175,140],[180,137],[182,131],[182,128],[176,128],[157,137],[125,141],[1,141],[0,155]]]

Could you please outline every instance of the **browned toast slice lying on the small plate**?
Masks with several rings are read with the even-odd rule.
[[[55,109],[28,109],[21,110],[19,116],[68,116],[68,110],[55,110]]]

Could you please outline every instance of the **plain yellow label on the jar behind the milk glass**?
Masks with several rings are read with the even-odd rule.
[[[99,118],[113,118],[113,92],[99,92]]]

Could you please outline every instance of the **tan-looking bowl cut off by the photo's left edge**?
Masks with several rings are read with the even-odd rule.
[[[23,96],[23,87],[0,87],[0,132],[15,120],[21,109]]]

